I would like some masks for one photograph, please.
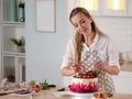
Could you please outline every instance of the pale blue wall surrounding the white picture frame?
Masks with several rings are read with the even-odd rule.
[[[62,85],[61,64],[68,38],[67,0],[56,0],[56,32],[35,31],[35,0],[26,0],[26,80]],[[50,23],[47,23],[50,24]]]

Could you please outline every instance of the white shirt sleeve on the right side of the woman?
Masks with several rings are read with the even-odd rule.
[[[118,68],[120,69],[120,65],[119,65],[119,52],[116,48],[114,44],[111,42],[111,40],[109,40],[108,43],[108,57],[109,57],[109,65],[110,66],[118,66]]]

